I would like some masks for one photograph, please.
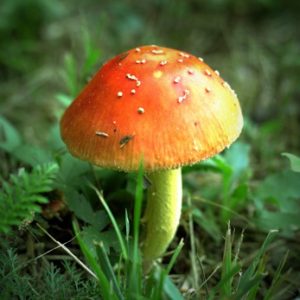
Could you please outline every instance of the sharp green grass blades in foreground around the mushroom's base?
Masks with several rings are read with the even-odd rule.
[[[137,186],[135,194],[135,208],[134,208],[134,222],[133,222],[133,236],[131,239],[131,230],[129,225],[126,228],[126,237],[123,238],[121,233],[121,228],[118,225],[112,211],[109,206],[106,204],[102,194],[98,191],[97,188],[91,186],[91,189],[96,192],[97,197],[101,204],[104,206],[107,214],[110,217],[111,223],[113,224],[113,230],[118,236],[118,243],[120,245],[120,254],[118,262],[116,265],[112,264],[109,254],[104,247],[103,242],[94,241],[94,246],[96,249],[96,255],[87,247],[86,243],[82,239],[82,233],[79,228],[79,223],[75,218],[73,220],[73,229],[74,234],[79,243],[81,252],[83,253],[85,260],[88,265],[83,263],[76,255],[74,255],[65,245],[56,241],[43,227],[37,224],[38,228],[41,229],[46,236],[50,237],[52,240],[61,247],[67,255],[71,256],[79,266],[87,272],[90,279],[88,281],[96,279],[97,284],[99,285],[100,295],[103,299],[183,299],[180,290],[172,283],[170,280],[169,274],[172,268],[176,264],[176,260],[182,250],[184,244],[183,241],[180,241],[176,247],[173,255],[171,256],[169,263],[166,266],[155,265],[151,272],[144,276],[142,258],[140,255],[139,249],[139,223],[141,216],[141,207],[142,207],[142,198],[143,198],[143,169],[141,168],[137,175]],[[189,202],[191,205],[191,203]],[[125,215],[127,216],[127,214]],[[127,219],[128,217],[126,217]],[[129,224],[129,221],[126,221],[126,224]],[[189,234],[191,236],[191,262],[194,263],[192,268],[193,276],[193,293],[187,296],[187,299],[199,299],[199,297],[207,299],[256,299],[256,296],[259,294],[261,284],[266,273],[266,257],[269,247],[272,245],[278,231],[270,231],[266,239],[254,253],[253,258],[247,263],[248,266],[244,267],[243,262],[239,259],[240,250],[243,241],[243,233],[240,239],[237,242],[236,252],[233,253],[234,240],[231,234],[231,226],[228,224],[228,228],[225,235],[225,243],[223,249],[223,260],[221,267],[221,274],[219,280],[209,288],[209,292],[205,292],[204,287],[208,285],[212,277],[218,273],[214,272],[211,276],[208,276],[206,282],[199,282],[196,262],[197,262],[197,251],[195,249],[195,242],[192,238],[194,236],[193,230],[193,221],[190,214],[189,219]],[[194,245],[194,246],[193,246]],[[7,259],[10,259],[11,262],[16,260],[11,250],[8,250],[9,257],[2,257],[2,277],[1,280],[4,284],[10,283],[10,278],[16,276],[21,270],[26,267],[26,264],[23,266],[17,266],[13,269],[5,268],[7,264]],[[43,255],[38,257],[43,258]],[[38,259],[36,258],[36,259]],[[267,290],[266,295],[263,299],[274,299],[274,294],[280,281],[283,277],[283,268],[287,261],[287,254],[283,257],[282,261],[277,267],[275,276],[271,282],[270,288]],[[29,262],[27,262],[29,263]],[[53,268],[53,267],[50,267]],[[54,269],[51,269],[54,271]],[[7,272],[7,273],[5,273]],[[56,272],[53,273],[53,276],[58,275]],[[23,282],[25,279],[25,283]],[[29,278],[27,276],[21,276],[18,274],[14,279],[19,285],[24,285],[26,290],[31,286]],[[10,283],[12,284],[12,283]],[[91,285],[92,286],[92,285]],[[6,289],[3,290],[2,296],[5,296]],[[203,293],[207,293],[206,296],[203,296]],[[17,295],[15,290],[11,294],[8,294],[9,297],[12,295]],[[202,295],[202,296],[201,296]],[[40,296],[40,292],[36,291],[36,296]],[[6,296],[5,296],[6,297]]]

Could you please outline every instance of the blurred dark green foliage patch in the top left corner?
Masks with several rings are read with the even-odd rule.
[[[0,8],[0,78],[24,75],[39,59],[36,54],[47,22],[62,13],[58,1],[2,1]]]

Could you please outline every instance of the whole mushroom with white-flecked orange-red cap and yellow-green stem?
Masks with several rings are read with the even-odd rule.
[[[126,172],[143,161],[150,180],[144,262],[172,241],[182,203],[181,167],[207,159],[240,134],[236,94],[203,59],[158,46],[122,53],[100,68],[61,120],[69,151]]]

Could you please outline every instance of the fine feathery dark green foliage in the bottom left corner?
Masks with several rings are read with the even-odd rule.
[[[14,250],[0,252],[1,300],[98,299],[95,280],[86,279],[74,264],[64,263],[63,270],[52,263],[44,264],[35,276],[24,272],[26,266]]]

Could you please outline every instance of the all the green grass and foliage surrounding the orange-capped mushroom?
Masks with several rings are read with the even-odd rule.
[[[77,4],[17,0],[0,9],[0,298],[296,298],[298,4]],[[57,124],[102,62],[147,43],[218,68],[239,95],[245,127],[230,149],[183,169],[180,227],[145,276],[142,170],[72,158]]]

